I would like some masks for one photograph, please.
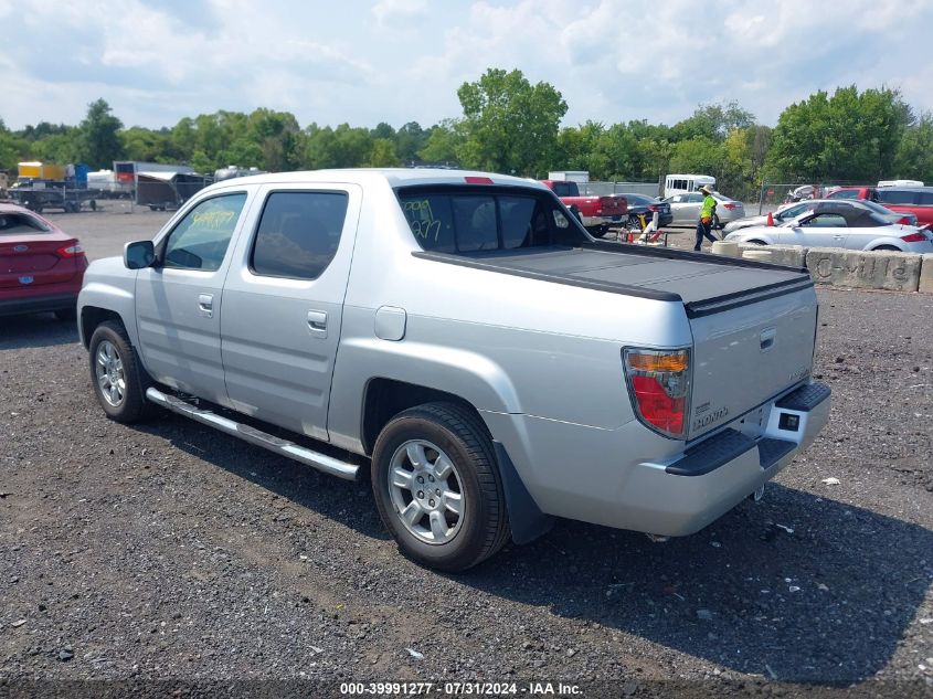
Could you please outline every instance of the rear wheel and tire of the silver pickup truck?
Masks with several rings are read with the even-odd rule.
[[[492,441],[473,412],[427,403],[382,430],[372,458],[379,515],[406,557],[463,571],[496,553],[509,536]]]

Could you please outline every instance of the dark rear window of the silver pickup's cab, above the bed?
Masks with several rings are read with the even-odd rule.
[[[558,202],[534,193],[406,189],[399,202],[426,251],[478,253],[585,240]]]

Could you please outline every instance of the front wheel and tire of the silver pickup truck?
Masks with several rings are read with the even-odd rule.
[[[146,389],[152,379],[146,373],[123,325],[102,322],[91,336],[91,382],[107,417],[134,423],[152,413]]]

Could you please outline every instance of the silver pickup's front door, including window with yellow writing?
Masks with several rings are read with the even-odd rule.
[[[231,239],[246,192],[220,194],[191,209],[158,244],[156,266],[139,271],[136,316],[142,363],[159,382],[226,402],[220,324]]]

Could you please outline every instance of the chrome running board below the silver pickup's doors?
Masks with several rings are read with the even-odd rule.
[[[343,478],[344,480],[357,479],[357,472],[359,472],[360,467],[356,464],[341,462],[339,458],[333,458],[332,456],[315,452],[314,449],[300,446],[294,442],[289,442],[288,439],[276,437],[275,435],[263,432],[262,430],[256,430],[255,427],[244,425],[243,423],[235,422],[229,417],[223,417],[209,410],[203,410],[197,405],[182,401],[180,398],[162,393],[155,388],[150,388],[146,391],[146,398],[157,405],[161,405],[162,407],[172,411],[173,413],[191,417],[191,420],[197,420],[201,424],[214,427],[215,430],[220,430],[221,432],[234,437],[240,437],[244,442],[255,444],[256,446],[261,446],[264,449],[268,449],[269,452],[285,456],[286,458],[305,464],[306,466],[311,466],[312,468],[317,468],[318,470],[330,474],[331,476],[337,476],[338,478]]]

